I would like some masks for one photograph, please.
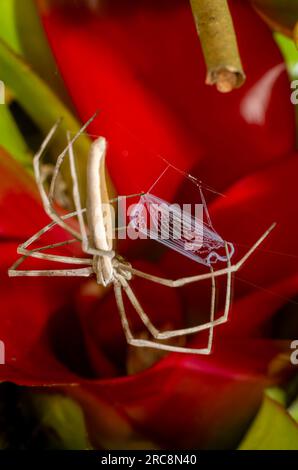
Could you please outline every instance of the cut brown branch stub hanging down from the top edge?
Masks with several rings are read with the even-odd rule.
[[[240,87],[245,74],[226,0],[190,0],[207,66],[206,83],[228,93]]]

